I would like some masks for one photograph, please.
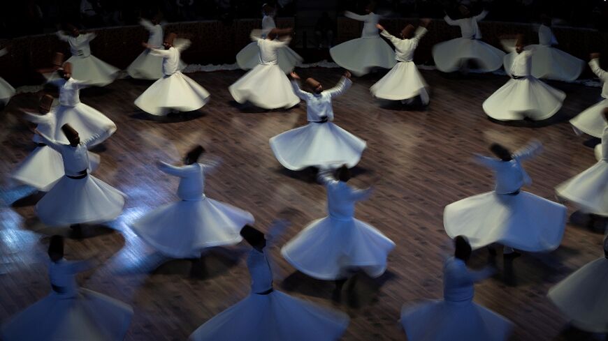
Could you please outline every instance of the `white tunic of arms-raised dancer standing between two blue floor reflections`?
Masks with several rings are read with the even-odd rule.
[[[105,134],[93,135],[89,139],[81,141],[77,146],[62,144],[46,135],[40,135],[40,137],[43,143],[61,154],[67,176],[80,176],[82,175],[82,171],[86,171],[90,167],[88,148],[94,145],[98,139],[103,139],[107,135],[107,132]]]

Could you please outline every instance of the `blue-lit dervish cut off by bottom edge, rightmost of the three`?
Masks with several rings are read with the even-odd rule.
[[[463,236],[456,236],[454,245],[454,257],[446,259],[443,266],[443,299],[403,305],[400,322],[407,340],[508,340],[511,321],[473,302],[475,283],[493,275],[495,269],[469,270],[471,245]]]

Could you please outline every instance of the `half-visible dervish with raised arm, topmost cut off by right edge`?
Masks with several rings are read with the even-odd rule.
[[[608,125],[602,118],[602,111],[608,107],[608,72],[600,68],[600,54],[592,53],[589,66],[595,75],[602,81],[602,98],[599,103],[589,107],[570,120],[575,130],[584,132],[593,137],[602,137],[604,128]]]

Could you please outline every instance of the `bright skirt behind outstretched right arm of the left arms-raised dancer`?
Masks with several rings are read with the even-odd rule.
[[[55,109],[55,116],[57,117],[57,128],[61,128],[64,124],[69,123],[78,132],[80,141],[85,141],[89,137],[98,134],[105,135],[106,131],[110,130],[109,135],[104,139],[96,140],[94,143],[100,144],[116,131],[116,125],[112,120],[84,103],[78,103],[74,107],[59,105]],[[55,130],[55,139],[65,144],[69,143],[61,129]]]

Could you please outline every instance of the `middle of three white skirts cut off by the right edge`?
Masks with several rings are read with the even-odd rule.
[[[556,192],[585,212],[608,216],[608,162],[600,160],[558,185]]]

